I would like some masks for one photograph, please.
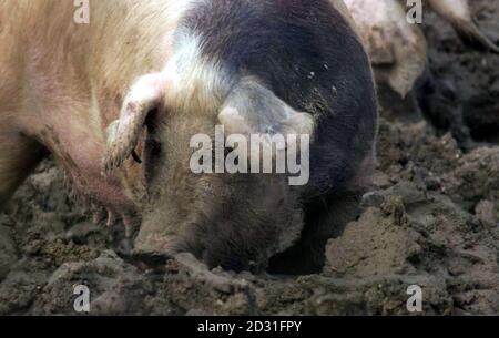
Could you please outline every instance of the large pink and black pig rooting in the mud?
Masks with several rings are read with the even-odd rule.
[[[307,234],[324,244],[342,196],[369,185],[377,132],[343,2],[89,3],[88,23],[69,0],[0,4],[0,202],[51,154],[79,195],[123,219],[136,257],[262,272]],[[217,125],[309,135],[309,180],[194,173],[191,140]]]

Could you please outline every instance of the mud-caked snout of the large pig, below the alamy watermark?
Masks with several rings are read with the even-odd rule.
[[[167,202],[155,206],[144,217],[134,254],[191,253],[210,268],[262,273],[272,256],[297,240],[303,212],[284,177],[240,177],[230,185],[217,181],[212,182],[216,191],[196,201],[204,207],[192,207],[187,219],[174,219],[177,208]]]

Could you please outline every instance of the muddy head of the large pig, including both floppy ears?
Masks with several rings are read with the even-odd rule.
[[[198,144],[193,147],[193,136],[212,140],[213,148],[206,152],[210,158],[216,157],[217,125],[224,126],[225,140],[235,134],[249,140],[255,134],[313,132],[312,115],[296,112],[258,80],[238,78],[226,83],[220,90],[206,83],[201,89],[164,73],[143,76],[130,90],[120,119],[110,125],[104,157],[108,173],[134,154],[146,131],[141,158],[147,198],[136,253],[189,252],[211,267],[261,270],[271,256],[299,236],[299,188],[289,185],[287,174],[192,170],[193,155],[200,151]],[[249,145],[246,155],[238,153],[237,161],[251,163],[252,150]],[[225,148],[222,156],[230,151]],[[213,162],[214,167],[216,158]]]

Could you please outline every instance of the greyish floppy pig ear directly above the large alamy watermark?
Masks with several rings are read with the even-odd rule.
[[[240,83],[225,101],[218,121],[226,134],[312,135],[314,119],[295,111],[254,80]]]

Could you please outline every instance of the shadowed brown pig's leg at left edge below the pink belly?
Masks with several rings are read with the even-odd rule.
[[[0,130],[0,208],[43,158],[44,148],[22,135]]]

